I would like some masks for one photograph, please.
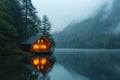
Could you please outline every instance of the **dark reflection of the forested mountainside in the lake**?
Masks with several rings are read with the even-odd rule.
[[[120,80],[120,54],[115,52],[56,54],[66,69],[95,80]],[[116,68],[118,67],[118,69]]]

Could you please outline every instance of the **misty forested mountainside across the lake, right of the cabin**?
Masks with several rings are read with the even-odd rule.
[[[111,11],[104,5],[95,17],[70,23],[54,34],[59,48],[120,48],[120,0],[114,0]]]

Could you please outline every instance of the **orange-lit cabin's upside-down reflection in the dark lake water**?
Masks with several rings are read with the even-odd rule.
[[[49,80],[49,72],[52,70],[55,61],[54,56],[31,56],[23,59],[24,66],[29,71],[30,80]]]

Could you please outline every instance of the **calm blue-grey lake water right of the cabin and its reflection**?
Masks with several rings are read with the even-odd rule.
[[[119,49],[56,49],[50,80],[120,80]]]

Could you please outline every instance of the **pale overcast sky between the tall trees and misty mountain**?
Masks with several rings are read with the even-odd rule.
[[[60,32],[73,21],[82,21],[97,14],[111,0],[32,0],[37,15],[47,15],[52,24],[51,32]],[[109,5],[110,7],[110,5]]]

